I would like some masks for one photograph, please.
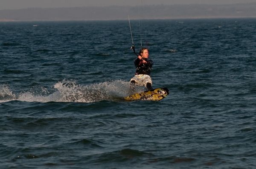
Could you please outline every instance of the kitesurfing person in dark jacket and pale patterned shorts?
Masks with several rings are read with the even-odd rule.
[[[152,80],[150,77],[150,70],[153,61],[148,58],[148,48],[142,48],[140,55],[134,60],[136,66],[136,73],[130,80],[130,86],[145,86],[148,90],[152,90]]]

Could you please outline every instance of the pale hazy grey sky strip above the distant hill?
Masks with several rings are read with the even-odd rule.
[[[144,5],[172,4],[230,4],[252,3],[256,0],[142,0]],[[81,6],[141,6],[141,0],[0,0],[0,10],[19,8],[56,8]]]

